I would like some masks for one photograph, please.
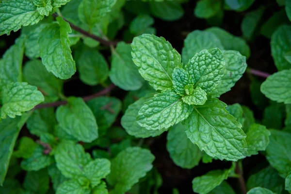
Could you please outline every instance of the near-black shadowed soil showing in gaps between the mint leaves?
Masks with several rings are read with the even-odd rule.
[[[210,27],[205,19],[199,19],[194,16],[193,11],[196,2],[197,0],[190,0],[188,3],[183,4],[185,14],[177,21],[170,22],[155,18],[154,27],[157,29],[157,35],[163,36],[166,40],[168,40],[179,53],[181,53],[183,41],[188,33],[194,30],[204,30]],[[257,0],[245,12],[237,13],[234,11],[225,11],[223,24],[220,27],[233,35],[241,36],[241,22],[244,15],[251,10],[259,8],[261,5],[265,5],[267,7],[262,19],[263,21],[272,16],[276,11],[280,10],[275,0]],[[117,35],[117,39],[122,39],[123,31],[124,29]],[[10,36],[0,36],[0,43],[5,45],[1,48],[0,55],[2,55],[12,44],[14,44],[16,37],[19,35],[20,32],[18,31],[16,33],[12,32]],[[258,35],[252,42],[248,42],[248,44],[251,50],[251,56],[247,60],[248,67],[268,73],[274,73],[276,69],[271,56],[270,39],[265,38],[262,35]],[[103,54],[105,56],[110,56],[110,53],[107,51]],[[27,59],[24,58],[24,61],[26,60]],[[263,78],[258,79],[262,81],[264,80]],[[262,110],[259,110],[251,100],[249,89],[250,82],[250,75],[245,73],[237,84],[231,89],[231,91],[221,96],[220,100],[228,105],[240,103],[241,105],[248,106],[254,111],[255,117],[260,120],[262,118]],[[84,85],[78,79],[77,73],[70,80],[65,82],[64,87],[66,96],[85,96],[91,94],[93,90],[99,89],[98,87],[92,89],[92,87]],[[126,95],[126,91],[115,89],[112,95],[122,100]],[[122,113],[119,115],[114,125],[120,125],[121,116]],[[25,131],[25,129],[22,130],[21,135],[27,135],[27,131]],[[231,162],[214,160],[209,164],[200,162],[199,166],[196,166],[191,170],[182,169],[175,165],[169,157],[166,150],[166,133],[163,133],[160,137],[155,138],[154,140],[155,141],[151,144],[150,148],[151,152],[156,157],[154,166],[158,169],[163,178],[163,185],[159,189],[160,194],[171,194],[173,188],[178,188],[180,194],[193,194],[191,182],[195,176],[204,175],[213,169],[229,168],[231,165]],[[245,179],[247,179],[248,176],[253,174],[255,171],[262,168],[262,166],[268,165],[262,155],[256,155],[251,158],[243,159],[242,164]],[[237,193],[239,193],[240,187],[238,185],[238,179],[229,178],[227,182],[231,184]]]

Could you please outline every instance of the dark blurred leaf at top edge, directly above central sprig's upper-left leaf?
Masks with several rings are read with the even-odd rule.
[[[166,21],[182,18],[184,9],[177,1],[150,1],[152,15]]]

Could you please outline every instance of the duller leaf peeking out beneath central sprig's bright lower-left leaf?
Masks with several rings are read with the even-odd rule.
[[[161,135],[167,128],[160,130],[147,130],[146,127],[140,126],[136,122],[136,116],[141,107],[144,106],[144,103],[149,101],[152,95],[146,95],[143,98],[140,98],[133,104],[129,105],[128,109],[125,111],[124,115],[121,118],[121,125],[125,128],[126,132],[129,135],[132,135],[136,138],[148,138],[156,137]]]

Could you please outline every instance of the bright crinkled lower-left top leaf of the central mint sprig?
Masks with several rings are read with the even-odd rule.
[[[184,104],[173,89],[167,89],[144,103],[137,115],[137,123],[148,130],[161,130],[186,119],[193,107]]]

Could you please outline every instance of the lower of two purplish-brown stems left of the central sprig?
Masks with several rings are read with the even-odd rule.
[[[89,101],[89,100],[91,100],[93,98],[97,98],[99,96],[103,96],[103,95],[109,93],[115,87],[116,86],[114,84],[111,84],[107,88],[104,88],[104,89],[102,89],[101,91],[99,91],[99,92],[97,92],[95,94],[82,97],[82,99],[86,102],[86,101]],[[67,104],[67,101],[57,101],[57,102],[53,102],[53,103],[40,104],[40,105],[34,106],[33,109],[57,107],[57,106],[65,105],[65,104]]]

